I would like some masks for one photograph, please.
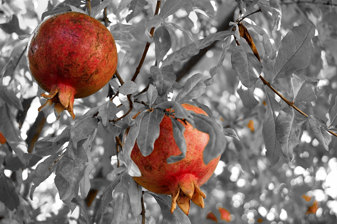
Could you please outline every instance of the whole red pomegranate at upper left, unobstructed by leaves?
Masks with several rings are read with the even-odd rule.
[[[54,103],[57,119],[63,110],[72,118],[74,98],[87,97],[109,82],[117,67],[113,36],[95,18],[80,12],[53,15],[34,30],[27,50],[30,73],[41,94]]]

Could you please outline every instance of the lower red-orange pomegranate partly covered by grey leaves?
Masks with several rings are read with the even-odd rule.
[[[182,104],[186,110],[192,110],[198,114],[206,114],[202,109],[190,104]],[[209,136],[189,123],[185,126],[184,137],[186,140],[186,157],[178,162],[168,164],[166,159],[172,155],[181,154],[173,137],[173,128],[170,117],[164,116],[159,124],[160,134],[154,142],[152,153],[144,157],[135,143],[131,151],[131,159],[139,167],[142,176],[133,179],[144,188],[158,194],[171,194],[171,213],[176,206],[188,215],[190,199],[193,203],[204,208],[203,198],[206,195],[200,190],[213,174],[220,156],[212,159],[207,165],[204,163],[203,151],[206,147]],[[126,139],[128,130],[124,134]]]

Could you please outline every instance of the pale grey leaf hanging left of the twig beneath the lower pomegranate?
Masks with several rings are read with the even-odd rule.
[[[137,184],[131,176],[129,176],[129,184],[128,194],[130,197],[131,210],[133,216],[137,217],[142,212],[142,186]]]

